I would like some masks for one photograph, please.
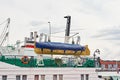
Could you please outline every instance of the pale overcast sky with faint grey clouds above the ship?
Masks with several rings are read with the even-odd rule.
[[[52,41],[64,41],[64,16],[70,15],[70,35],[79,33],[81,45],[88,45],[91,56],[99,49],[96,56],[119,60],[119,4],[120,0],[0,0],[0,23],[11,19],[10,44],[23,41],[31,31],[48,34],[49,21],[51,32],[60,32],[52,34]],[[0,25],[0,29],[5,25]]]

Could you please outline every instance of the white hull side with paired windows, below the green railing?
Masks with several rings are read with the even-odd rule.
[[[99,80],[94,68],[2,68],[0,69],[0,80],[3,75],[7,75],[7,80],[16,80],[16,75],[27,75],[27,80],[36,80],[35,75],[45,75],[45,80],[60,80],[59,75],[63,75],[61,80],[81,80],[81,75],[89,75],[88,80]],[[53,79],[53,75],[57,75],[57,79]]]

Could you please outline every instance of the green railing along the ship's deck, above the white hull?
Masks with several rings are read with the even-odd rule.
[[[37,65],[36,58],[29,58],[28,64],[23,64],[21,58],[22,56],[0,56],[0,61],[19,67],[40,67]],[[72,65],[72,62],[63,64],[61,59],[43,59],[43,62],[44,66],[41,67],[78,67]],[[93,60],[86,59],[83,66],[79,67],[94,67],[94,62]]]

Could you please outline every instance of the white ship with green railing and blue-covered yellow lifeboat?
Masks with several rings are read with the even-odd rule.
[[[88,45],[81,45],[79,36],[76,43],[69,43],[71,16],[64,18],[64,42],[51,42],[50,34],[35,31],[25,37],[23,45],[17,40],[15,45],[3,46],[9,31],[7,19],[0,46],[0,80],[104,80],[100,59],[90,57]]]

